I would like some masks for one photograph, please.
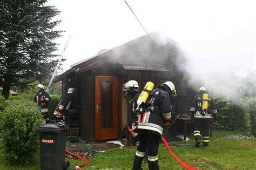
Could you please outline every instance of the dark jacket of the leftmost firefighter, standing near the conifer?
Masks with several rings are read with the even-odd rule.
[[[48,92],[43,91],[41,94],[39,92],[35,94],[34,101],[40,107],[42,114],[49,112],[49,100],[51,97]]]

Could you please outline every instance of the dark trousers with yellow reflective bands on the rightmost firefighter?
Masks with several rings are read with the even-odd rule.
[[[194,119],[194,139],[196,141],[201,140],[201,130],[203,131],[203,145],[208,146],[209,143],[209,130],[210,130],[211,119]]]

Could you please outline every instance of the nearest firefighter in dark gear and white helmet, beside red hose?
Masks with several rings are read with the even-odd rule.
[[[176,96],[175,86],[171,81],[166,81],[153,90],[147,99],[145,104],[147,109],[138,117],[139,145],[134,157],[133,169],[140,169],[146,149],[149,169],[159,169],[158,145],[164,127],[170,124],[172,96]],[[134,98],[136,103],[138,99],[138,97]]]

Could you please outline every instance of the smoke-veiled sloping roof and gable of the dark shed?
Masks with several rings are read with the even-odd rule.
[[[151,33],[151,37],[156,36],[156,33]],[[115,60],[126,70],[169,71],[164,66],[164,57],[166,58],[167,56],[159,56],[157,52],[158,47],[159,46],[153,43],[147,35],[144,35],[81,60],[80,62],[72,64],[71,67],[75,72],[79,73]],[[70,70],[66,71],[66,74],[69,73]],[[55,82],[63,76],[64,74],[61,74],[56,77]]]

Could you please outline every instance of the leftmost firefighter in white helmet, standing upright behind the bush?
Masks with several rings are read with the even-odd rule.
[[[48,92],[44,91],[44,85],[38,84],[37,90],[38,92],[36,92],[35,94],[34,101],[39,106],[39,110],[44,117],[45,123],[47,124],[50,122],[48,112],[49,112],[49,101],[51,100],[51,97],[48,94]]]

